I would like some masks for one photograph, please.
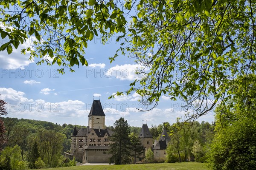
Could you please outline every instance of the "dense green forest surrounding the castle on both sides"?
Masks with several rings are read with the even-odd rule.
[[[5,124],[8,141],[1,152],[2,164],[4,164],[3,162],[9,162],[12,170],[75,165],[74,160],[67,160],[63,156],[64,152],[70,150],[74,125],[58,125],[52,122],[9,117],[1,117],[1,119]],[[76,125],[76,127],[85,126]],[[194,122],[193,124],[180,126],[179,131],[177,131],[177,122],[172,125],[164,122],[158,126],[151,125],[149,128],[154,140],[160,138],[164,127],[172,137],[172,145],[170,144],[168,147],[168,153],[172,153],[172,158],[167,159],[169,162],[179,161],[179,154],[181,161],[194,160],[193,147],[195,144],[200,145],[202,150],[200,158],[203,157],[207,152],[207,144],[212,141],[214,133],[214,125],[208,122]],[[107,128],[114,129],[113,126]],[[130,133],[138,136],[140,128],[130,127]],[[177,143],[177,141],[179,142]],[[172,147],[173,144],[176,144],[175,148]],[[198,160],[204,161],[204,159]],[[161,162],[163,160],[154,160],[154,162],[157,161]]]

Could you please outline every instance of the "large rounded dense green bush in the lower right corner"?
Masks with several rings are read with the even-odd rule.
[[[256,128],[253,121],[234,122],[216,134],[208,159],[213,170],[255,169]]]

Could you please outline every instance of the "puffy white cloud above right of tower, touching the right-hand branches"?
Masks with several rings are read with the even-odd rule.
[[[125,65],[116,65],[108,69],[105,72],[106,77],[116,77],[116,79],[120,80],[135,80],[142,79],[143,75],[137,75],[136,70],[142,69],[143,66],[140,64],[125,64]],[[144,71],[148,71],[148,68],[145,68]]]

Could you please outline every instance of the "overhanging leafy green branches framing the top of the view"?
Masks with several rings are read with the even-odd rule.
[[[35,36],[30,59],[55,62],[74,71],[87,65],[87,43],[113,34],[123,39],[118,55],[142,66],[143,75],[124,92],[137,92],[145,105],[156,106],[162,95],[180,98],[198,118],[226,101],[230,80],[256,68],[255,0],[4,0],[0,33],[9,41],[0,51],[12,53]],[[131,22],[129,23],[128,21]],[[53,59],[49,61],[50,57]],[[113,97],[113,96],[111,96]]]

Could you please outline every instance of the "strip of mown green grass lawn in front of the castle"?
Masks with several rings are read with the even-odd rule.
[[[127,165],[86,165],[41,170],[210,170],[206,164],[197,162]]]

